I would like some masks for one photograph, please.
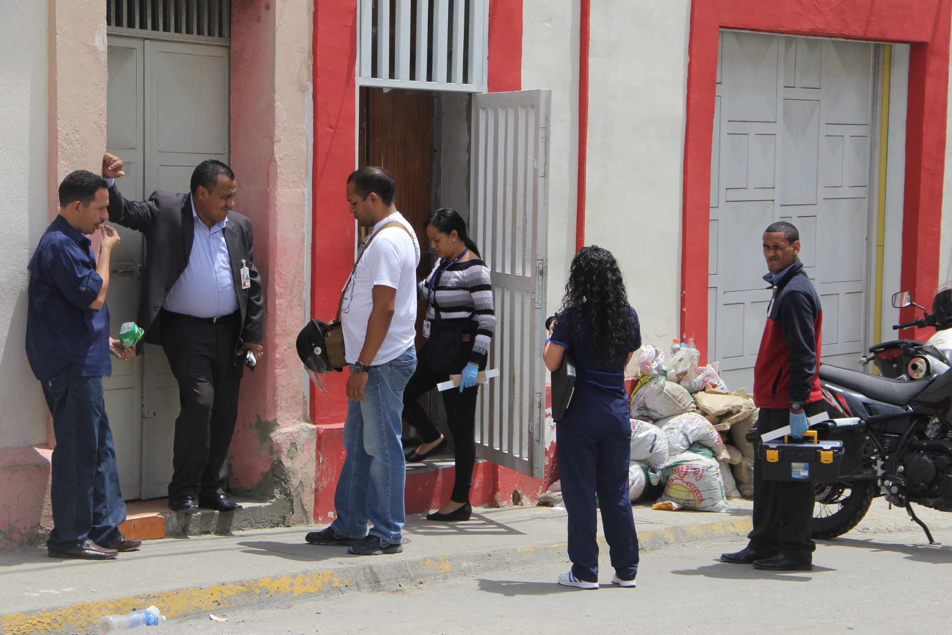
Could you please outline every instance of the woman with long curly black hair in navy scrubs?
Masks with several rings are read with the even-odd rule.
[[[611,252],[583,248],[572,260],[562,311],[545,340],[545,366],[565,355],[575,364],[575,390],[556,422],[562,496],[568,511],[570,571],[559,584],[598,588],[596,500],[615,569],[611,582],[634,586],[638,536],[628,500],[631,424],[625,365],[642,345],[638,314],[628,305],[622,271]]]

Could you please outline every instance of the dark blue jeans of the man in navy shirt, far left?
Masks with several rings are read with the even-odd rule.
[[[53,415],[50,551],[82,545],[87,538],[109,547],[119,539],[126,504],[103,401],[102,377],[74,377],[65,367],[40,382]]]

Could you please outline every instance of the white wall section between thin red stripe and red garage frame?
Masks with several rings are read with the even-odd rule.
[[[689,17],[689,0],[591,3],[585,244],[615,254],[645,342],[665,349],[680,337]]]

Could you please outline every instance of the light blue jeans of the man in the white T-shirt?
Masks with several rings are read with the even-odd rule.
[[[334,493],[337,518],[330,525],[339,538],[370,533],[385,546],[403,542],[407,463],[400,441],[401,414],[404,388],[415,369],[416,350],[409,347],[387,364],[370,367],[364,401],[347,404],[347,458]],[[368,532],[369,523],[373,528]]]

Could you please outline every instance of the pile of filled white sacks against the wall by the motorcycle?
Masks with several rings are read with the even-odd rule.
[[[664,351],[651,345],[636,359],[642,376],[630,401],[632,502],[652,486],[664,487],[661,502],[703,511],[726,511],[728,498],[752,498],[753,446],[744,435],[758,409],[747,391],[728,391],[716,363],[696,367],[695,348],[677,351],[670,369]]]

